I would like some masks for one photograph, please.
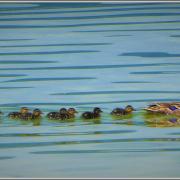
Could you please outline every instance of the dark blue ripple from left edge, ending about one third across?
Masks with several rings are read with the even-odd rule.
[[[17,46],[14,46],[17,47]],[[22,46],[23,47],[23,46]],[[29,61],[29,60],[0,60],[0,64],[46,64],[46,63],[56,63],[57,61]]]

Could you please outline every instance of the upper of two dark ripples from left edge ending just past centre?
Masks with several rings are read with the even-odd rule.
[[[32,45],[3,45],[0,47],[53,47],[53,46],[101,46],[111,45],[112,43],[69,43],[69,44],[32,44]],[[41,62],[41,61],[40,61]]]

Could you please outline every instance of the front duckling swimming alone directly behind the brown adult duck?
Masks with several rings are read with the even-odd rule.
[[[127,105],[124,109],[123,108],[115,108],[111,112],[111,115],[123,116],[123,115],[131,114],[133,111],[135,111],[135,109],[131,105]]]

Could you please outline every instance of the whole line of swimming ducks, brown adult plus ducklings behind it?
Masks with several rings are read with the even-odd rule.
[[[128,114],[132,114],[135,109],[131,105],[127,105],[125,108],[115,108],[110,113],[114,116],[124,116]],[[180,116],[180,102],[173,103],[155,103],[151,104],[146,108],[143,108],[148,113],[153,114],[165,114],[165,115],[176,115]],[[92,112],[87,111],[82,113],[81,117],[84,119],[96,119],[101,116],[103,111],[95,107]],[[75,114],[78,113],[75,108],[61,108],[57,112],[50,112],[46,116],[49,119],[73,119],[75,118]],[[27,107],[22,107],[19,112],[10,112],[8,117],[11,119],[23,119],[23,120],[33,120],[37,118],[41,118],[42,111],[40,109],[34,109],[33,112],[29,112]]]

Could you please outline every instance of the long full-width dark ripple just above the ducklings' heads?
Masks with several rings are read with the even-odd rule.
[[[34,103],[7,103],[0,104],[0,107],[21,107],[21,106],[78,106],[78,105],[98,105],[98,104],[120,104],[120,103],[134,103],[134,102],[178,102],[179,98],[155,98],[155,99],[129,99],[118,101],[92,101],[92,102],[34,102]]]

